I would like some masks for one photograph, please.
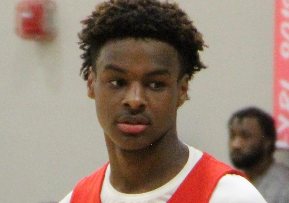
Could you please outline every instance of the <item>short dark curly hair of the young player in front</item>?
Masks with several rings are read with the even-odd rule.
[[[205,42],[187,14],[176,3],[156,0],[110,0],[96,6],[81,23],[84,28],[78,37],[83,59],[80,75],[88,79],[88,70],[96,71],[96,57],[101,47],[110,39],[126,37],[150,38],[167,42],[179,53],[182,70],[189,79],[206,66],[200,61],[198,51]]]

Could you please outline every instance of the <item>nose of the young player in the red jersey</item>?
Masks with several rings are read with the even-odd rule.
[[[131,83],[126,90],[122,105],[129,106],[131,109],[136,110],[144,108],[147,104],[145,90],[142,84],[137,82]]]

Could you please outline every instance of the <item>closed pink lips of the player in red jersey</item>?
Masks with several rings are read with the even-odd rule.
[[[143,116],[122,116],[117,121],[120,131],[131,134],[144,132],[148,125],[149,120]]]

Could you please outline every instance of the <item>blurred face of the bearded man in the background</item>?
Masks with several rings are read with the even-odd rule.
[[[257,118],[233,119],[229,134],[230,157],[235,167],[250,168],[267,153],[268,139],[264,137]]]

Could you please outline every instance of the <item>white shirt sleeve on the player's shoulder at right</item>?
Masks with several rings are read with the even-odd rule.
[[[212,193],[210,203],[265,203],[258,190],[244,177],[235,174],[224,175]]]

